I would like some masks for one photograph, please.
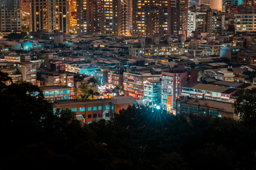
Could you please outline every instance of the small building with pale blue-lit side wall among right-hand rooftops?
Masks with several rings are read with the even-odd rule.
[[[238,52],[244,49],[241,46],[221,47],[220,57],[226,57],[230,62],[238,61]]]

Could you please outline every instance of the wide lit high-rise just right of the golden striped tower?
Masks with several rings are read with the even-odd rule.
[[[131,3],[128,0],[77,0],[78,33],[130,35]]]

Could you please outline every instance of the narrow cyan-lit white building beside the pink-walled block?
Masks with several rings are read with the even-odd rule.
[[[159,105],[162,98],[161,92],[162,82],[160,80],[146,81],[146,83],[144,84],[143,103],[149,106]]]

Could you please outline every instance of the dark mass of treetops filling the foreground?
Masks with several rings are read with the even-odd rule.
[[[129,106],[81,127],[29,83],[0,92],[2,167],[103,170],[255,169],[255,126],[228,118],[187,118]],[[8,169],[9,169],[8,168]],[[6,168],[7,169],[7,168]]]

